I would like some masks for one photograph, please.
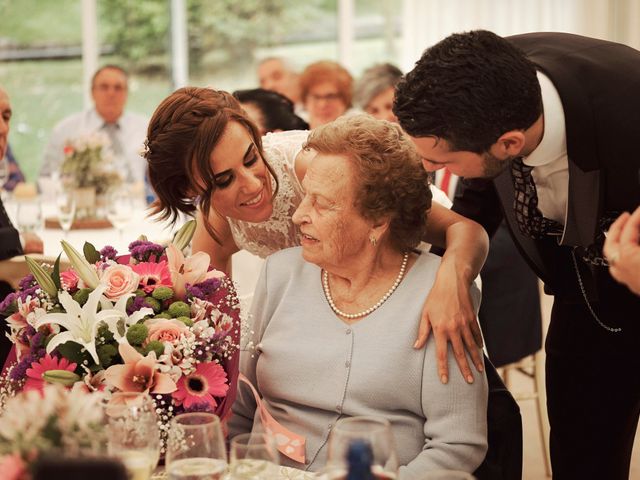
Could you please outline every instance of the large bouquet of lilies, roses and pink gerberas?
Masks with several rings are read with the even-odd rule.
[[[22,390],[50,383],[87,392],[146,392],[166,433],[185,411],[225,418],[235,398],[240,309],[233,282],[204,252],[185,257],[195,221],[167,247],[134,241],[129,254],[81,255],[72,268],[26,257],[32,274],[0,304],[16,358],[0,381],[0,412]]]

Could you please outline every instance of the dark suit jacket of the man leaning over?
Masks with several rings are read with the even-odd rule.
[[[513,212],[511,173],[493,181],[467,180],[453,209],[493,233],[506,218],[521,253],[550,293],[579,299],[571,249],[596,240],[604,212],[631,211],[640,204],[640,52],[630,47],[565,33],[508,37],[553,82],[565,114],[569,157],[566,232],[533,240],[520,233]],[[587,295],[598,298],[606,269],[581,267]]]

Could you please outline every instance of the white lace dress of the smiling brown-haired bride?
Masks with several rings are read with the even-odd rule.
[[[296,176],[296,155],[307,140],[308,131],[268,133],[262,139],[265,160],[278,177],[278,193],[273,199],[271,217],[259,223],[227,218],[236,245],[259,257],[266,257],[284,248],[300,245],[297,227],[291,221],[293,212],[304,197]],[[275,190],[275,181],[272,181]]]

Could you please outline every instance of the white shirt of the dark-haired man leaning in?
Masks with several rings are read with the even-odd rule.
[[[549,77],[538,72],[538,81],[542,90],[544,132],[542,141],[524,158],[524,163],[534,167],[531,175],[538,193],[538,209],[545,217],[566,225],[569,159],[564,110]]]

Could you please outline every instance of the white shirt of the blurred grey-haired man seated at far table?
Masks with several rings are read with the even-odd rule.
[[[115,134],[122,147],[122,155],[116,157],[114,167],[126,182],[144,181],[146,161],[140,156],[140,151],[147,136],[148,123],[146,117],[125,112],[116,124]],[[49,177],[60,169],[67,140],[103,130],[105,126],[105,121],[94,108],[75,113],[60,121],[53,128],[49,143],[45,147],[40,176]]]

